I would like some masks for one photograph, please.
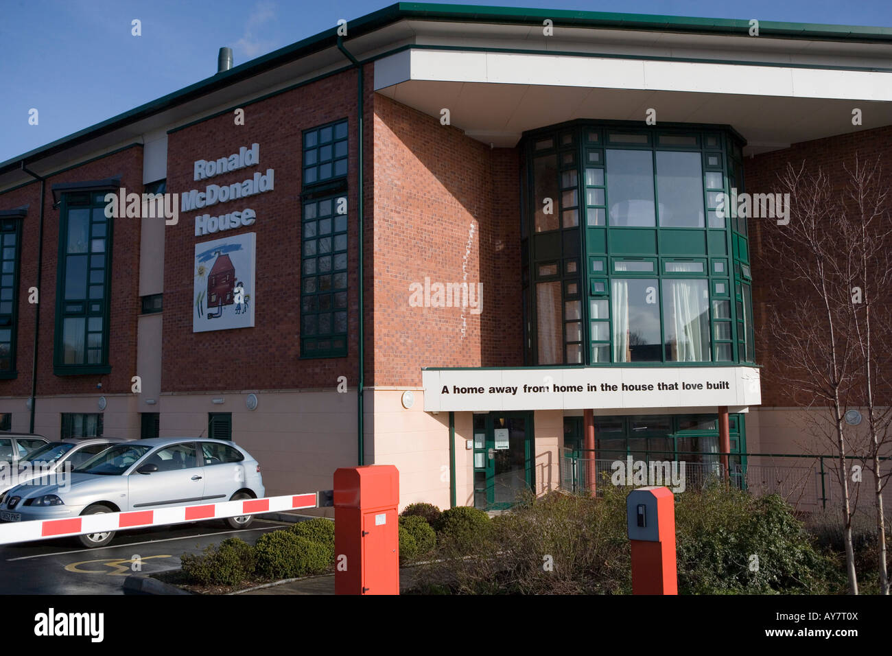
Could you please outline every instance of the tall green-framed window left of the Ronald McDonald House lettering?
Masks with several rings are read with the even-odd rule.
[[[108,373],[112,223],[105,193],[62,195],[56,268],[54,373]]]

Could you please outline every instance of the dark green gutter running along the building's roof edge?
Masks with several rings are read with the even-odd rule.
[[[566,10],[519,9],[514,7],[492,7],[460,4],[392,4],[377,12],[368,13],[350,21],[351,37],[359,37],[376,29],[381,29],[401,20],[451,21],[451,22],[493,22],[497,24],[541,25],[549,19],[555,27],[637,29],[643,31],[685,32],[696,34],[736,35],[749,34],[749,20],[692,18],[685,16],[663,16],[656,14],[634,14],[615,12],[573,12]],[[780,21],[759,21],[760,37],[797,38],[821,41],[850,41],[859,43],[890,43],[892,28],[851,25],[822,25],[814,23],[791,23]],[[252,78],[286,63],[325,50],[337,44],[337,27],[326,29],[317,35],[301,39],[291,46],[279,48],[272,53],[235,66],[229,71],[217,73],[188,87],[161,96],[151,103],[142,104],[129,112],[103,120],[89,128],[75,132],[68,137],[21,154],[6,162],[0,162],[0,175],[19,168],[23,160],[35,159],[59,153],[73,145],[89,141],[125,125],[164,112],[179,104],[211,94],[235,82]]]

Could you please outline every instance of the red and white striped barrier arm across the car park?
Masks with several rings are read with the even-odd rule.
[[[82,515],[65,519],[34,519],[31,521],[0,523],[0,544],[30,542],[51,537],[84,536],[105,531],[122,531],[129,528],[186,524],[203,519],[226,519],[264,512],[294,511],[316,508],[318,493],[268,496],[263,499],[240,499],[197,506],[156,508],[152,511],[104,512],[99,515]]]

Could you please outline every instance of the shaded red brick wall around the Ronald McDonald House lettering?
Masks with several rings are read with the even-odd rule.
[[[372,88],[366,71],[366,89]],[[332,388],[346,376],[356,384],[358,352],[358,147],[357,77],[346,71],[276,95],[244,108],[244,126],[232,114],[204,120],[168,138],[169,192],[203,190],[274,169],[273,191],[196,212],[181,212],[179,223],[166,228],[164,247],[164,347],[161,389],[166,392],[228,389]],[[367,93],[367,116],[371,112]],[[301,136],[302,130],[348,119],[348,357],[300,360],[301,319]],[[368,118],[367,118],[368,125]],[[371,199],[371,137],[367,128],[366,198]],[[240,146],[260,144],[258,166],[195,181],[194,161],[228,157]],[[247,227],[195,237],[194,217],[252,208],[257,220]],[[370,208],[367,209],[370,232]],[[256,233],[254,328],[192,332],[194,248],[196,244]],[[367,240],[368,243],[368,240]],[[368,271],[368,270],[367,270]],[[370,312],[367,306],[367,317]],[[368,319],[367,319],[368,325]]]

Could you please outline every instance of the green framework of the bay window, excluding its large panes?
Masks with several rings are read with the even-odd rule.
[[[667,319],[675,317],[677,311],[673,314],[670,309],[669,314],[666,313],[664,286],[668,284],[674,290],[672,286],[678,286],[678,281],[683,279],[689,279],[693,286],[699,278],[704,282],[697,283],[697,286],[706,285],[707,290],[706,295],[701,297],[701,302],[705,304],[698,315],[701,326],[698,345],[702,345],[702,348],[698,346],[694,350],[696,360],[677,360],[674,354],[664,353],[659,361],[622,361],[622,364],[679,366],[753,361],[752,347],[747,346],[751,344],[747,335],[752,328],[752,308],[751,305],[743,307],[751,303],[751,299],[747,297],[747,301],[741,304],[737,303],[736,298],[748,291],[739,284],[751,283],[751,272],[747,266],[746,222],[744,220],[741,225],[739,220],[719,219],[716,212],[720,194],[729,193],[731,187],[737,187],[739,193],[744,191],[742,143],[739,135],[726,126],[681,123],[642,128],[640,123],[629,121],[596,123],[574,120],[528,134],[522,166],[524,179],[521,183],[524,189],[521,213],[524,225],[521,232],[525,237],[522,242],[526,331],[524,361],[527,364],[616,363],[614,349],[607,348],[610,343],[601,339],[607,323],[611,326],[611,339],[614,337],[615,308],[609,301],[612,281],[616,278],[657,279],[660,334],[664,347],[670,332],[665,321],[672,322],[673,335],[679,334],[680,325],[678,319]],[[651,174],[655,210],[653,225],[640,217],[613,225],[609,208],[610,194],[614,189],[611,187],[610,162],[606,161],[610,157],[607,151],[652,154],[650,164],[641,164],[643,168],[640,171],[628,166],[620,170],[627,177],[631,175],[632,180],[645,171]],[[672,205],[670,201],[673,196],[666,199],[665,212],[660,202],[661,171],[657,170],[661,153],[685,157],[684,162],[690,164],[687,166],[690,169],[687,176],[689,188],[674,196],[674,210],[669,206]],[[673,160],[665,159],[664,169],[666,162]],[[699,185],[696,184],[698,174]],[[644,180],[646,176],[639,177],[641,179],[635,184],[641,187],[643,194],[650,186]],[[613,183],[614,187],[628,184],[631,183]],[[667,184],[663,180],[663,192],[669,188]],[[541,208],[546,196],[557,199],[553,217],[538,216],[544,214]],[[621,194],[621,197],[624,196]],[[686,209],[689,205],[690,212]],[[690,217],[687,217],[687,213],[690,213]],[[697,214],[700,215],[699,219]],[[583,349],[588,353],[582,363],[574,361],[567,351],[568,348],[575,348],[575,328],[572,333],[568,332],[571,315],[566,313],[567,302],[574,300],[574,297],[568,297],[567,293],[569,289],[577,287],[574,287],[574,281],[567,279],[569,271],[564,264],[576,257],[586,265],[582,326],[588,332],[588,339],[583,338],[582,344],[589,347]],[[644,270],[645,267],[652,270]],[[561,283],[559,298],[555,291],[558,280]],[[731,291],[732,286],[736,294]],[[592,303],[604,298],[608,300],[608,311],[601,311],[604,303]],[[557,316],[560,307],[565,311],[563,323],[558,321]],[[730,316],[727,316],[729,307]],[[595,311],[602,316],[591,316],[590,313]],[[572,316],[575,318],[575,314]],[[684,319],[681,321],[683,323]],[[740,328],[736,325],[738,323],[742,324]],[[739,333],[739,329],[742,332]],[[740,339],[738,334],[741,335]],[[559,353],[557,346],[561,336],[565,349],[563,358],[560,355],[551,358],[551,353]],[[673,338],[673,344],[676,342]],[[542,359],[543,345],[549,350],[546,360]],[[601,357],[606,351],[611,353],[611,358]]]

